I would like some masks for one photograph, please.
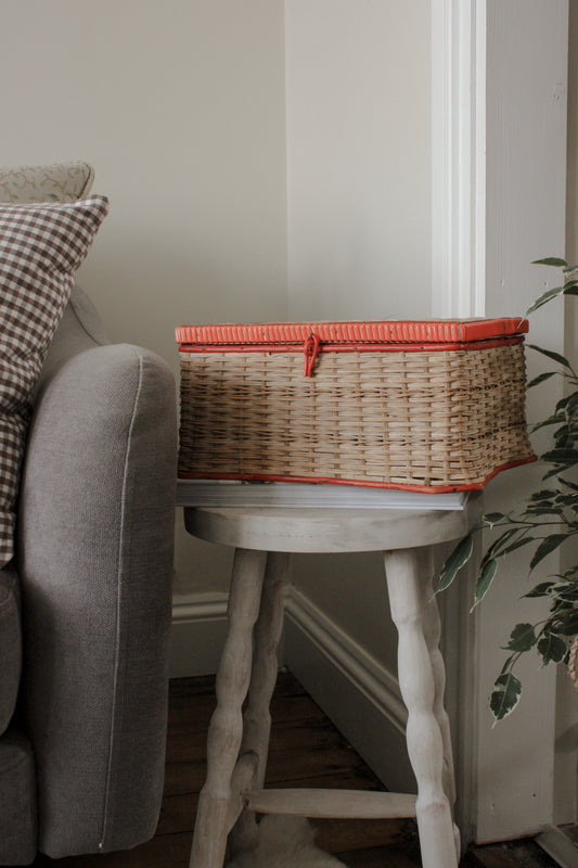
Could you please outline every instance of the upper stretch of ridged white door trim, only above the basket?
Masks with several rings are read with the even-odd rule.
[[[483,316],[486,0],[432,0],[432,310]]]

